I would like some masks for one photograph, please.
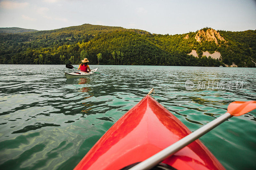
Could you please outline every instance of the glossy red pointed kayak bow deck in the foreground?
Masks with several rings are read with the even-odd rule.
[[[150,95],[124,114],[77,164],[77,169],[117,170],[141,162],[191,131]],[[176,169],[225,169],[197,139],[163,163]]]

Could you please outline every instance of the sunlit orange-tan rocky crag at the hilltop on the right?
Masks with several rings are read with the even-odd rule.
[[[227,42],[223,37],[220,36],[220,33],[210,28],[207,29],[206,32],[204,32],[204,30],[199,30],[195,36],[196,41],[201,42],[201,37],[204,38],[205,41],[214,41],[216,44],[218,44],[218,40]]]

